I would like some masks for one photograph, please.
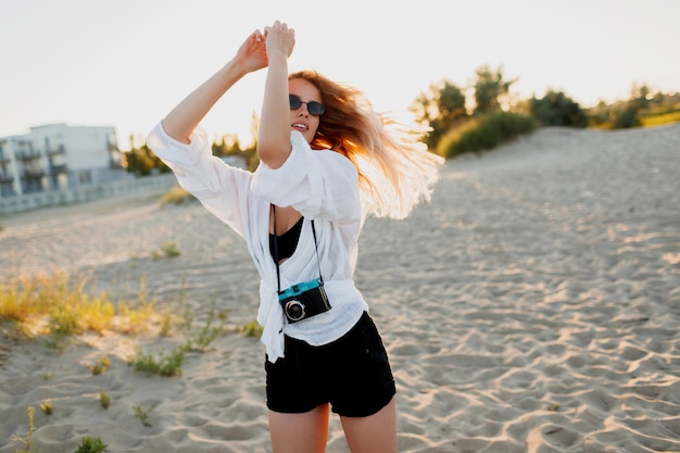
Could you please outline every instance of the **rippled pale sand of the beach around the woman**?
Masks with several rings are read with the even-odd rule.
[[[236,234],[196,202],[159,197],[0,225],[0,282],[86,274],[115,298],[144,287],[159,307],[228,311],[176,377],[127,362],[180,334],[87,334],[55,351],[3,331],[0,453],[23,446],[11,439],[28,430],[27,406],[34,451],[73,453],[85,436],[109,452],[270,451],[264,348],[234,332],[259,302]],[[150,257],[171,241],[179,256]],[[546,128],[452,160],[430,204],[367,219],[356,284],[396,378],[400,451],[680,452],[680,124]],[[102,355],[111,365],[93,375]],[[348,451],[335,416],[327,451]]]

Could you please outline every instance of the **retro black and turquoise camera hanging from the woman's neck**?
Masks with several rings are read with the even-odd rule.
[[[324,282],[318,278],[279,291],[278,300],[289,323],[297,323],[330,310]]]

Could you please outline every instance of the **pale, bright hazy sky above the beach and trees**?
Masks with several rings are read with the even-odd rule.
[[[677,0],[0,0],[0,137],[33,126],[113,126],[138,146],[247,36],[295,29],[289,70],[362,89],[410,122],[432,84],[465,87],[482,65],[518,99],[563,90],[582,106],[628,99],[634,83],[680,90]],[[265,71],[202,122],[250,141]]]

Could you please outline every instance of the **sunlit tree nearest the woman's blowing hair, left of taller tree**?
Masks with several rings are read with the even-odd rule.
[[[421,92],[410,111],[416,121],[430,127],[426,137],[428,148],[437,148],[441,137],[453,126],[468,117],[465,109],[465,93],[450,80],[432,84],[429,92]]]

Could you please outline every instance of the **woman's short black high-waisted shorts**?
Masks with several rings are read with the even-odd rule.
[[[265,362],[267,407],[301,414],[330,403],[345,417],[366,417],[396,393],[378,329],[368,313],[340,339],[322,345],[286,336],[286,356]]]

